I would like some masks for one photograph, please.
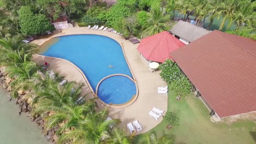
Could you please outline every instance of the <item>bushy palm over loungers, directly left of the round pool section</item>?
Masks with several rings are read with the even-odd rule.
[[[62,86],[56,82],[49,82],[48,84],[47,87],[42,87],[44,89],[41,91],[37,91],[33,98],[33,115],[49,111],[57,112],[62,109],[63,105],[70,107],[78,105],[77,99],[82,92],[83,85],[76,86],[77,83],[75,82],[66,82]],[[86,97],[86,95],[83,95],[83,97]]]

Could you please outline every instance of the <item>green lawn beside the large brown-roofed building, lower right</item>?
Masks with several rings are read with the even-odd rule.
[[[161,122],[148,133],[154,131],[159,137],[171,135],[175,143],[256,143],[256,122],[212,123],[210,112],[193,94],[177,101],[176,96],[169,91],[168,110],[173,109],[179,110],[179,126],[167,130],[166,124]]]

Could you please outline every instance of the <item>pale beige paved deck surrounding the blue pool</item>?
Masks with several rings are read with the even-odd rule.
[[[61,35],[71,35],[71,34],[98,34],[110,37],[123,47],[125,52],[126,59],[130,65],[133,75],[135,76],[137,85],[138,85],[138,98],[130,106],[121,109],[109,108],[109,117],[120,119],[122,122],[119,126],[124,128],[127,134],[129,130],[127,129],[127,123],[138,120],[142,124],[143,130],[139,131],[138,134],[145,133],[150,129],[154,128],[162,121],[162,117],[156,121],[153,117],[149,116],[149,111],[153,107],[158,107],[161,110],[167,110],[167,95],[158,94],[158,87],[166,86],[166,82],[163,81],[159,75],[160,71],[155,71],[150,73],[148,62],[141,57],[141,54],[137,51],[138,44],[133,45],[129,40],[125,40],[120,35],[107,32],[99,31],[94,29],[88,29],[87,27],[74,27],[68,29],[62,29],[62,33],[55,31],[49,36],[32,41],[34,44],[42,45],[45,41],[48,41],[50,38],[59,37]],[[85,55],[86,56],[86,55]],[[53,69],[62,76],[65,76],[65,79],[68,81],[75,81],[78,83],[84,83],[83,94],[91,92],[83,72],[76,67],[73,63],[61,59],[46,57],[40,55],[33,56],[34,61],[43,64],[43,61],[46,61],[50,64],[49,69]],[[93,98],[94,95],[89,94],[89,98]],[[98,103],[98,107],[104,108],[103,104]],[[163,114],[165,115],[165,113]]]

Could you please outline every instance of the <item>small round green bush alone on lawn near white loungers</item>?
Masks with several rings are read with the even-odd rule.
[[[179,111],[178,110],[174,110],[174,111],[169,111],[166,112],[165,116],[164,116],[164,121],[167,124],[172,125],[173,127],[176,125],[179,125]]]

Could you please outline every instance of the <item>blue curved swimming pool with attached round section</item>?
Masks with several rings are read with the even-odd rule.
[[[104,103],[124,104],[136,95],[136,84],[132,81],[133,76],[124,57],[123,49],[117,41],[94,34],[66,35],[59,38],[60,40],[51,45],[43,55],[67,59],[77,65],[85,74],[94,92],[99,85],[98,97]],[[131,79],[117,76],[103,80],[102,85],[99,83],[104,77],[113,74],[123,74]],[[120,84],[120,81],[122,85],[117,84]],[[108,89],[108,91],[103,91],[103,89]],[[115,89],[119,89],[120,92],[116,93]],[[104,92],[109,98],[106,98]],[[120,97],[121,93],[126,95],[125,98]],[[105,95],[104,98],[101,97],[102,95]]]

